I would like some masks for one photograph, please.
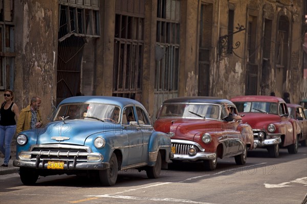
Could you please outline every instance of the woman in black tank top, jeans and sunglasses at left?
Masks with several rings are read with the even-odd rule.
[[[0,151],[4,154],[4,164],[2,167],[8,167],[11,156],[11,142],[16,132],[16,118],[19,117],[19,109],[12,101],[14,98],[13,91],[4,92],[5,101],[1,104],[0,109]]]

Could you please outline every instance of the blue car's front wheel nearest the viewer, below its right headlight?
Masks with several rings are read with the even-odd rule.
[[[109,163],[109,169],[99,171],[100,182],[103,186],[114,186],[117,180],[118,161],[114,153],[112,154]]]

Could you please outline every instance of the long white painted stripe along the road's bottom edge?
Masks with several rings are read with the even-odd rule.
[[[149,197],[135,197],[135,196],[123,196],[123,195],[100,195],[99,197],[106,198],[119,198],[119,199],[128,199],[128,200],[151,200],[151,201],[165,201],[166,202],[180,202],[180,203],[193,203],[193,204],[214,204],[209,202],[198,202],[193,200],[185,200],[185,199],[175,199],[175,198],[149,198]]]

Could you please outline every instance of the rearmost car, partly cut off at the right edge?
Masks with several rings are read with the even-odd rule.
[[[287,104],[289,115],[299,123],[302,133],[299,136],[299,142],[302,146],[307,146],[307,118],[303,107],[298,104]]]

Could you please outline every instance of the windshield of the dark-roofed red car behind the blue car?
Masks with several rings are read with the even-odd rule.
[[[220,118],[220,107],[212,104],[164,104],[159,118]]]

